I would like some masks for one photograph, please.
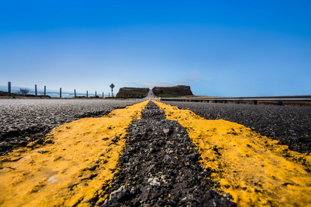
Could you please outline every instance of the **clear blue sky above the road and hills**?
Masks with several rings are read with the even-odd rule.
[[[0,85],[311,94],[311,1],[0,1]]]

